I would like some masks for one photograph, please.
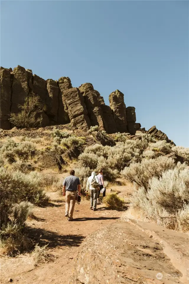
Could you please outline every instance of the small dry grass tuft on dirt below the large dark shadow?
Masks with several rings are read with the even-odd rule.
[[[48,245],[40,247],[38,243],[35,245],[34,251],[32,252],[35,266],[38,266],[40,263],[53,261],[56,258],[53,254],[48,253],[46,250],[47,246]]]

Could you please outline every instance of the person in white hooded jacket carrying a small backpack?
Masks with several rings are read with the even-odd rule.
[[[98,190],[100,190],[100,187],[99,187],[98,178],[94,171],[92,172],[91,176],[87,180],[87,186],[86,186],[87,192],[88,192],[88,189],[90,190],[90,193],[91,193],[90,209],[92,209],[92,206],[93,206],[93,211],[96,211],[97,210],[97,196],[98,196]]]

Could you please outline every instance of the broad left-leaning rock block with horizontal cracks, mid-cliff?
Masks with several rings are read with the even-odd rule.
[[[82,130],[88,130],[91,126],[84,97],[78,88],[71,88],[63,92],[68,115],[73,126]]]

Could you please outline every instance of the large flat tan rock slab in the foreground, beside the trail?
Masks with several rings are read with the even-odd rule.
[[[69,283],[184,283],[163,249],[132,224],[115,222],[84,240]]]

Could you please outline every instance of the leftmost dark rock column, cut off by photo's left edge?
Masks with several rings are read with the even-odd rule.
[[[1,76],[1,120],[0,127],[2,129],[10,129],[10,107],[11,107],[11,72],[9,69],[0,68]]]

